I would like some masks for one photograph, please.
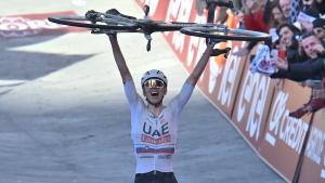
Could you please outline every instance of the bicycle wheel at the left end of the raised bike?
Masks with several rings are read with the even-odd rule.
[[[81,27],[81,28],[99,28],[99,29],[106,29],[106,30],[114,30],[114,31],[130,31],[134,32],[138,29],[136,25],[122,25],[118,22],[112,22],[112,24],[107,24],[107,22],[96,22],[92,23],[91,21],[87,19],[84,16],[80,15],[53,15],[48,18],[52,23],[74,26],[74,27]]]

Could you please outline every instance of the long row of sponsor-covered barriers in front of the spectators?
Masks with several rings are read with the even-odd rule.
[[[205,23],[206,16],[195,12],[192,0],[135,0],[139,5],[151,2],[154,19]],[[218,11],[218,9],[217,9]],[[230,12],[226,25],[238,25]],[[164,37],[191,71],[203,51],[205,39],[188,37],[178,31]],[[232,52],[245,42],[227,41],[217,47],[231,47]],[[285,80],[276,86],[274,80],[249,71],[250,55],[232,54],[212,57],[198,81],[202,93],[237,129],[256,154],[287,182],[325,183],[325,110],[306,115],[301,119],[288,116],[302,106],[310,96],[310,89]],[[310,130],[310,131],[309,131]],[[309,132],[308,132],[309,131]],[[304,148],[306,147],[306,148]]]

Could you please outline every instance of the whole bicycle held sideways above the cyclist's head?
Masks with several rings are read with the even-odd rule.
[[[217,5],[227,6],[230,4],[232,3],[217,3]],[[144,18],[125,15],[116,9],[110,9],[105,13],[91,10],[84,15],[54,15],[49,17],[49,21],[56,24],[89,28],[92,34],[141,32],[144,34],[148,41],[147,51],[151,50],[151,35],[156,31],[179,30],[185,35],[213,39],[218,42],[227,40],[266,41],[270,39],[270,36],[264,32],[233,29],[213,23],[198,24],[153,21],[148,17],[150,6],[144,5],[143,10],[145,13]]]

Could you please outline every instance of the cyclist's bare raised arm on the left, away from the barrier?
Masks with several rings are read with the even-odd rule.
[[[113,49],[114,58],[121,76],[122,82],[126,83],[128,80],[132,80],[131,73],[127,66],[126,60],[120,51],[116,35],[108,35],[110,45]]]

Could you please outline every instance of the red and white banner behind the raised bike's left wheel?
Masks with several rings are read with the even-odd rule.
[[[0,16],[0,38],[20,38],[84,30],[49,22],[48,17],[55,14],[74,15],[75,12]]]

